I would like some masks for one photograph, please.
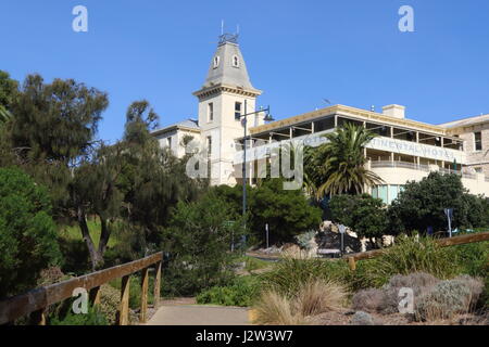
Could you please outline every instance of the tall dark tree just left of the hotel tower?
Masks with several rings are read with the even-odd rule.
[[[186,175],[186,160],[161,149],[151,136],[158,115],[147,101],[133,103],[122,145],[124,168],[121,184],[125,192],[123,217],[138,229],[140,248],[153,249],[161,242],[161,230],[168,226],[172,209],[178,202],[195,201],[206,181]]]

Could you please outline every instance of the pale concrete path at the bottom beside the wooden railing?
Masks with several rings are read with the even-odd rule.
[[[246,308],[172,305],[162,306],[147,325],[249,325]]]

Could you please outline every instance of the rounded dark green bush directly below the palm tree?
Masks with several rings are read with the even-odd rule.
[[[360,239],[381,237],[388,232],[383,201],[368,194],[335,195],[329,202],[331,219],[352,229]]]

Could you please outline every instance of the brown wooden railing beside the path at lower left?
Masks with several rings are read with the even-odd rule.
[[[160,301],[162,260],[163,253],[156,253],[133,262],[120,265],[10,297],[0,301],[0,324],[10,323],[21,317],[30,314],[32,324],[46,325],[47,308],[53,304],[71,298],[75,288],[82,287],[87,290],[87,292],[89,292],[91,304],[99,305],[101,285],[112,280],[122,279],[121,305],[117,323],[118,325],[127,325],[129,323],[129,278],[138,271],[141,271],[141,307],[139,321],[145,323],[147,321],[148,311],[149,269],[155,267],[154,306],[158,307]]]

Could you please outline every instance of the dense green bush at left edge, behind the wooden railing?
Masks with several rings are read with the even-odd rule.
[[[22,170],[0,168],[0,297],[36,285],[60,262],[47,190]]]

